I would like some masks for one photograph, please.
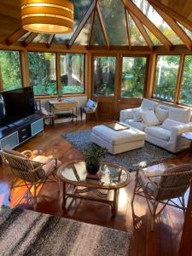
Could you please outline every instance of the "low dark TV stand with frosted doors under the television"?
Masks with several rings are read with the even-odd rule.
[[[34,113],[0,129],[0,148],[13,149],[44,131],[44,119]]]

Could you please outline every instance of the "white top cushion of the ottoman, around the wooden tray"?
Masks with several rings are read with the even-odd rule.
[[[130,126],[130,129],[124,131],[114,131],[106,125],[97,125],[92,128],[92,133],[113,145],[123,143],[144,141],[146,134]]]

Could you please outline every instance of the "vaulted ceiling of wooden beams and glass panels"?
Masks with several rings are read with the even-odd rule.
[[[113,45],[113,37],[109,34],[108,29],[108,14],[103,13],[103,4],[110,1],[82,0],[79,2],[79,0],[73,0],[74,5],[83,5],[85,2],[85,4],[90,3],[90,5],[84,6],[85,11],[82,12],[82,17],[79,18],[79,22],[76,22],[73,33],[67,35],[67,40],[63,40],[63,44],[67,44],[68,47],[71,47],[73,44],[77,44],[77,38],[81,40],[82,37],[79,36],[81,34],[84,36],[85,33],[87,34],[85,44],[93,44],[91,43],[91,40],[93,41],[91,38],[93,38],[94,33],[96,34],[96,26],[99,26],[101,35],[99,34],[95,37],[96,44],[105,44],[108,47]],[[155,45],[162,44],[165,45],[167,49],[172,49],[172,45],[174,44],[184,44],[187,49],[192,49],[192,0],[113,0],[111,2],[113,2],[113,9],[118,9],[119,4],[121,4],[123,8],[123,15],[125,15],[123,20],[125,20],[125,24],[122,25],[125,26],[125,33],[127,34],[127,38],[123,43],[124,45],[127,44],[131,48],[131,44],[140,43],[148,46],[149,49],[153,49]],[[143,7],[143,5],[145,6]],[[151,9],[149,13],[146,13],[146,9],[148,9],[146,5]],[[76,9],[74,9],[74,11],[76,11]],[[169,38],[169,35],[166,35],[161,29],[161,25],[158,26],[154,24],[153,14],[154,16],[160,15],[162,23],[166,23],[166,26],[172,30],[173,39]],[[41,35],[38,36],[37,33],[29,33],[22,29],[20,16],[20,0],[1,0],[0,44],[15,44],[15,42],[22,37],[24,38],[21,40],[20,44],[24,46],[31,44],[35,38],[39,38],[39,43],[43,42],[40,37]],[[114,23],[115,22],[117,22],[117,20],[114,20]],[[134,39],[135,41],[133,38],[131,39],[131,25],[135,27],[135,30],[137,29],[137,33],[134,35],[134,37],[136,37]],[[115,24],[114,29],[113,26],[111,26],[110,29],[114,32]],[[122,32],[122,35],[124,34],[125,36],[125,33]],[[174,36],[177,38],[176,43],[174,42]],[[46,43],[49,48],[51,44],[60,42],[56,37],[55,35],[44,35],[43,43]],[[64,38],[65,37],[66,36],[64,36]],[[101,43],[101,40],[97,42],[99,41],[98,37],[103,38],[103,43]],[[119,37],[121,37],[121,34],[119,34]],[[139,37],[142,38],[141,42],[138,40]],[[118,42],[115,43],[115,45],[118,44]]]

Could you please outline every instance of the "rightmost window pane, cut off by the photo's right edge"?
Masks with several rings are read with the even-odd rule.
[[[192,105],[192,55],[185,56],[179,102]]]

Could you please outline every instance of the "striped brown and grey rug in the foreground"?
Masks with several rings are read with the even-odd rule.
[[[19,208],[0,207],[1,255],[128,255],[130,234]]]

